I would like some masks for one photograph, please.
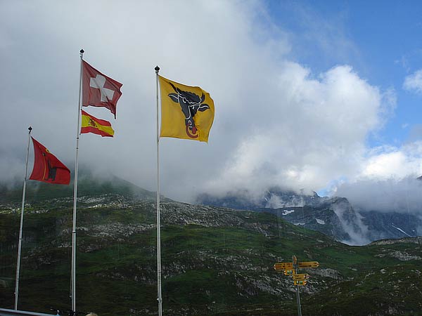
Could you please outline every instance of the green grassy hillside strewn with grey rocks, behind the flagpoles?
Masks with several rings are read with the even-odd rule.
[[[78,201],[77,306],[100,316],[156,315],[153,195],[114,185],[87,185]],[[50,187],[25,208],[21,310],[70,308],[72,199],[52,197]],[[13,308],[20,220],[8,194],[0,208],[2,308]],[[347,246],[269,213],[171,201],[161,219],[165,315],[297,315],[291,279],[272,268],[293,255],[320,263],[300,288],[303,315],[422,315],[418,239]]]

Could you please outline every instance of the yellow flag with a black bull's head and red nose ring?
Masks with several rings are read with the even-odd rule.
[[[198,86],[158,76],[161,94],[160,137],[207,142],[214,121],[214,101]]]

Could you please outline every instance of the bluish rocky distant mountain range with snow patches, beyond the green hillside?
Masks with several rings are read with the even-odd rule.
[[[348,244],[422,235],[422,219],[411,213],[354,209],[345,197],[319,197],[269,190],[260,198],[248,192],[216,197],[198,196],[199,204],[274,213],[294,225],[317,230]]]

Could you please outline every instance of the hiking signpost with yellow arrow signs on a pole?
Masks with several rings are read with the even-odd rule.
[[[296,286],[296,301],[298,302],[298,315],[302,316],[302,308],[300,308],[299,286],[305,286],[309,275],[307,273],[298,273],[298,269],[303,268],[318,268],[317,261],[303,261],[298,262],[296,256],[292,257],[292,262],[281,262],[274,264],[274,270],[283,272],[284,275],[291,275],[293,277],[293,285]]]

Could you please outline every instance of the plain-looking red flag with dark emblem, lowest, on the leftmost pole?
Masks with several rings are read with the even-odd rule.
[[[30,180],[68,185],[70,183],[68,167],[51,154],[44,145],[41,145],[33,137],[31,138],[34,144],[35,159]]]

